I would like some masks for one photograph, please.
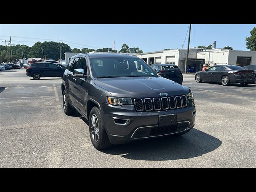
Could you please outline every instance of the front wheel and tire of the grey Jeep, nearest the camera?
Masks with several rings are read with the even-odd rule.
[[[112,144],[110,143],[108,134],[106,133],[101,112],[97,107],[92,108],[88,121],[89,134],[94,148],[97,150],[109,148]]]

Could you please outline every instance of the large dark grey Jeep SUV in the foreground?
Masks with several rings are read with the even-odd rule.
[[[192,91],[162,78],[136,56],[78,54],[62,79],[63,108],[88,120],[93,146],[182,135],[194,127]]]

